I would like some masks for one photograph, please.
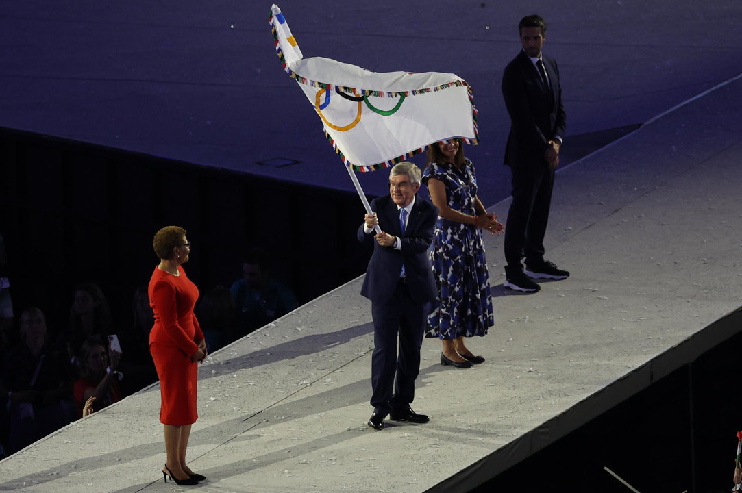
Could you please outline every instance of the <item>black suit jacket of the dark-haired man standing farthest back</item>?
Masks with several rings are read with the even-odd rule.
[[[510,113],[510,135],[505,165],[536,167],[548,165],[544,154],[548,141],[564,137],[566,116],[562,105],[559,68],[554,59],[542,54],[551,91],[545,90],[538,69],[523,50],[502,75],[502,96]]]

